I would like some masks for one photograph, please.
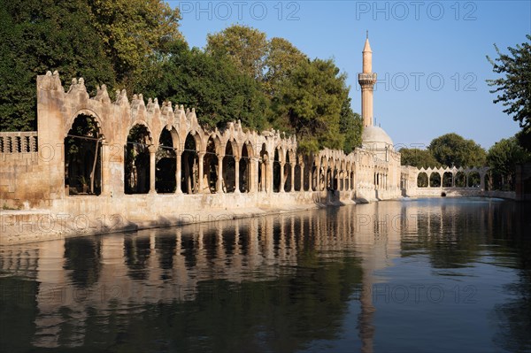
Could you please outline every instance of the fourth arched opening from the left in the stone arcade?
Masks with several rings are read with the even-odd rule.
[[[197,143],[194,135],[189,133],[184,141],[184,150],[181,155],[181,190],[185,194],[199,192],[199,157],[197,156]]]

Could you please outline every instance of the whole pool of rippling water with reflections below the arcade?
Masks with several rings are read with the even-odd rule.
[[[433,198],[0,248],[0,350],[531,351],[531,207]]]

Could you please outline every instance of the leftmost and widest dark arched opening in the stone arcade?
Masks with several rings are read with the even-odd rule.
[[[100,195],[103,136],[96,119],[80,114],[65,137],[65,189],[68,195]]]

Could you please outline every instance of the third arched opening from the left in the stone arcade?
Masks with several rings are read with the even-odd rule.
[[[164,128],[158,139],[158,150],[155,156],[155,189],[159,194],[175,192],[176,156],[173,150],[172,133]]]

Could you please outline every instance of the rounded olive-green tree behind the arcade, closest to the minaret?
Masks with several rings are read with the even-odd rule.
[[[273,125],[296,134],[303,151],[342,149],[339,121],[349,93],[345,79],[333,60],[297,65],[273,100]]]

